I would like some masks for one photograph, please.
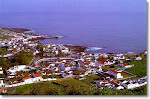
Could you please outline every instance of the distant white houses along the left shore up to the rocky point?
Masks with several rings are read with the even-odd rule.
[[[16,33],[12,31],[4,31],[1,32],[2,35],[11,36],[11,38],[0,40],[0,47],[6,48],[4,55],[0,55],[0,57],[11,58],[16,53],[25,50],[25,51],[33,51],[33,55],[39,53],[39,49],[37,49],[37,45],[39,44],[37,40],[43,38],[42,35],[34,35],[27,33]],[[61,53],[69,53],[69,49],[63,45],[56,45],[53,43],[42,44],[43,47],[43,56],[56,56]]]

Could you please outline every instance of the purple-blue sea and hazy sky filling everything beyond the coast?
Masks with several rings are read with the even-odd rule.
[[[146,0],[0,0],[0,26],[62,36],[42,42],[84,45],[91,52],[147,49]]]

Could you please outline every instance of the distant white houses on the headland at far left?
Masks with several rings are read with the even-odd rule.
[[[36,38],[37,36],[24,34],[24,33],[16,33],[16,32],[1,32],[3,35],[12,36],[11,38],[0,40],[0,47],[6,48],[7,53],[4,55],[0,55],[0,57],[11,58],[16,53],[26,50],[31,50],[31,46],[36,46],[37,43],[34,41],[30,41],[31,38]]]

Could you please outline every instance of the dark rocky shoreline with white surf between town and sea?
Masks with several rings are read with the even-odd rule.
[[[44,39],[55,39],[58,40],[61,38],[61,36],[50,36],[50,35],[41,35],[41,34],[36,34],[34,30],[30,28],[7,28],[7,27],[0,27],[2,29],[6,29],[12,32],[16,33],[23,33],[23,34],[28,34],[31,36],[36,36],[36,38],[31,38],[29,41],[41,41]],[[45,43],[44,43],[45,44]],[[87,53],[113,53],[113,52],[105,52],[103,48],[101,47],[90,47],[90,46],[83,46],[83,45],[69,45],[69,44],[62,44],[66,47],[68,47],[72,52],[87,52]],[[102,50],[102,51],[100,51]],[[100,51],[100,52],[99,52]],[[114,54],[117,53],[124,53],[124,54],[131,54],[130,52],[115,52]],[[142,52],[132,52],[132,54],[139,54]]]

